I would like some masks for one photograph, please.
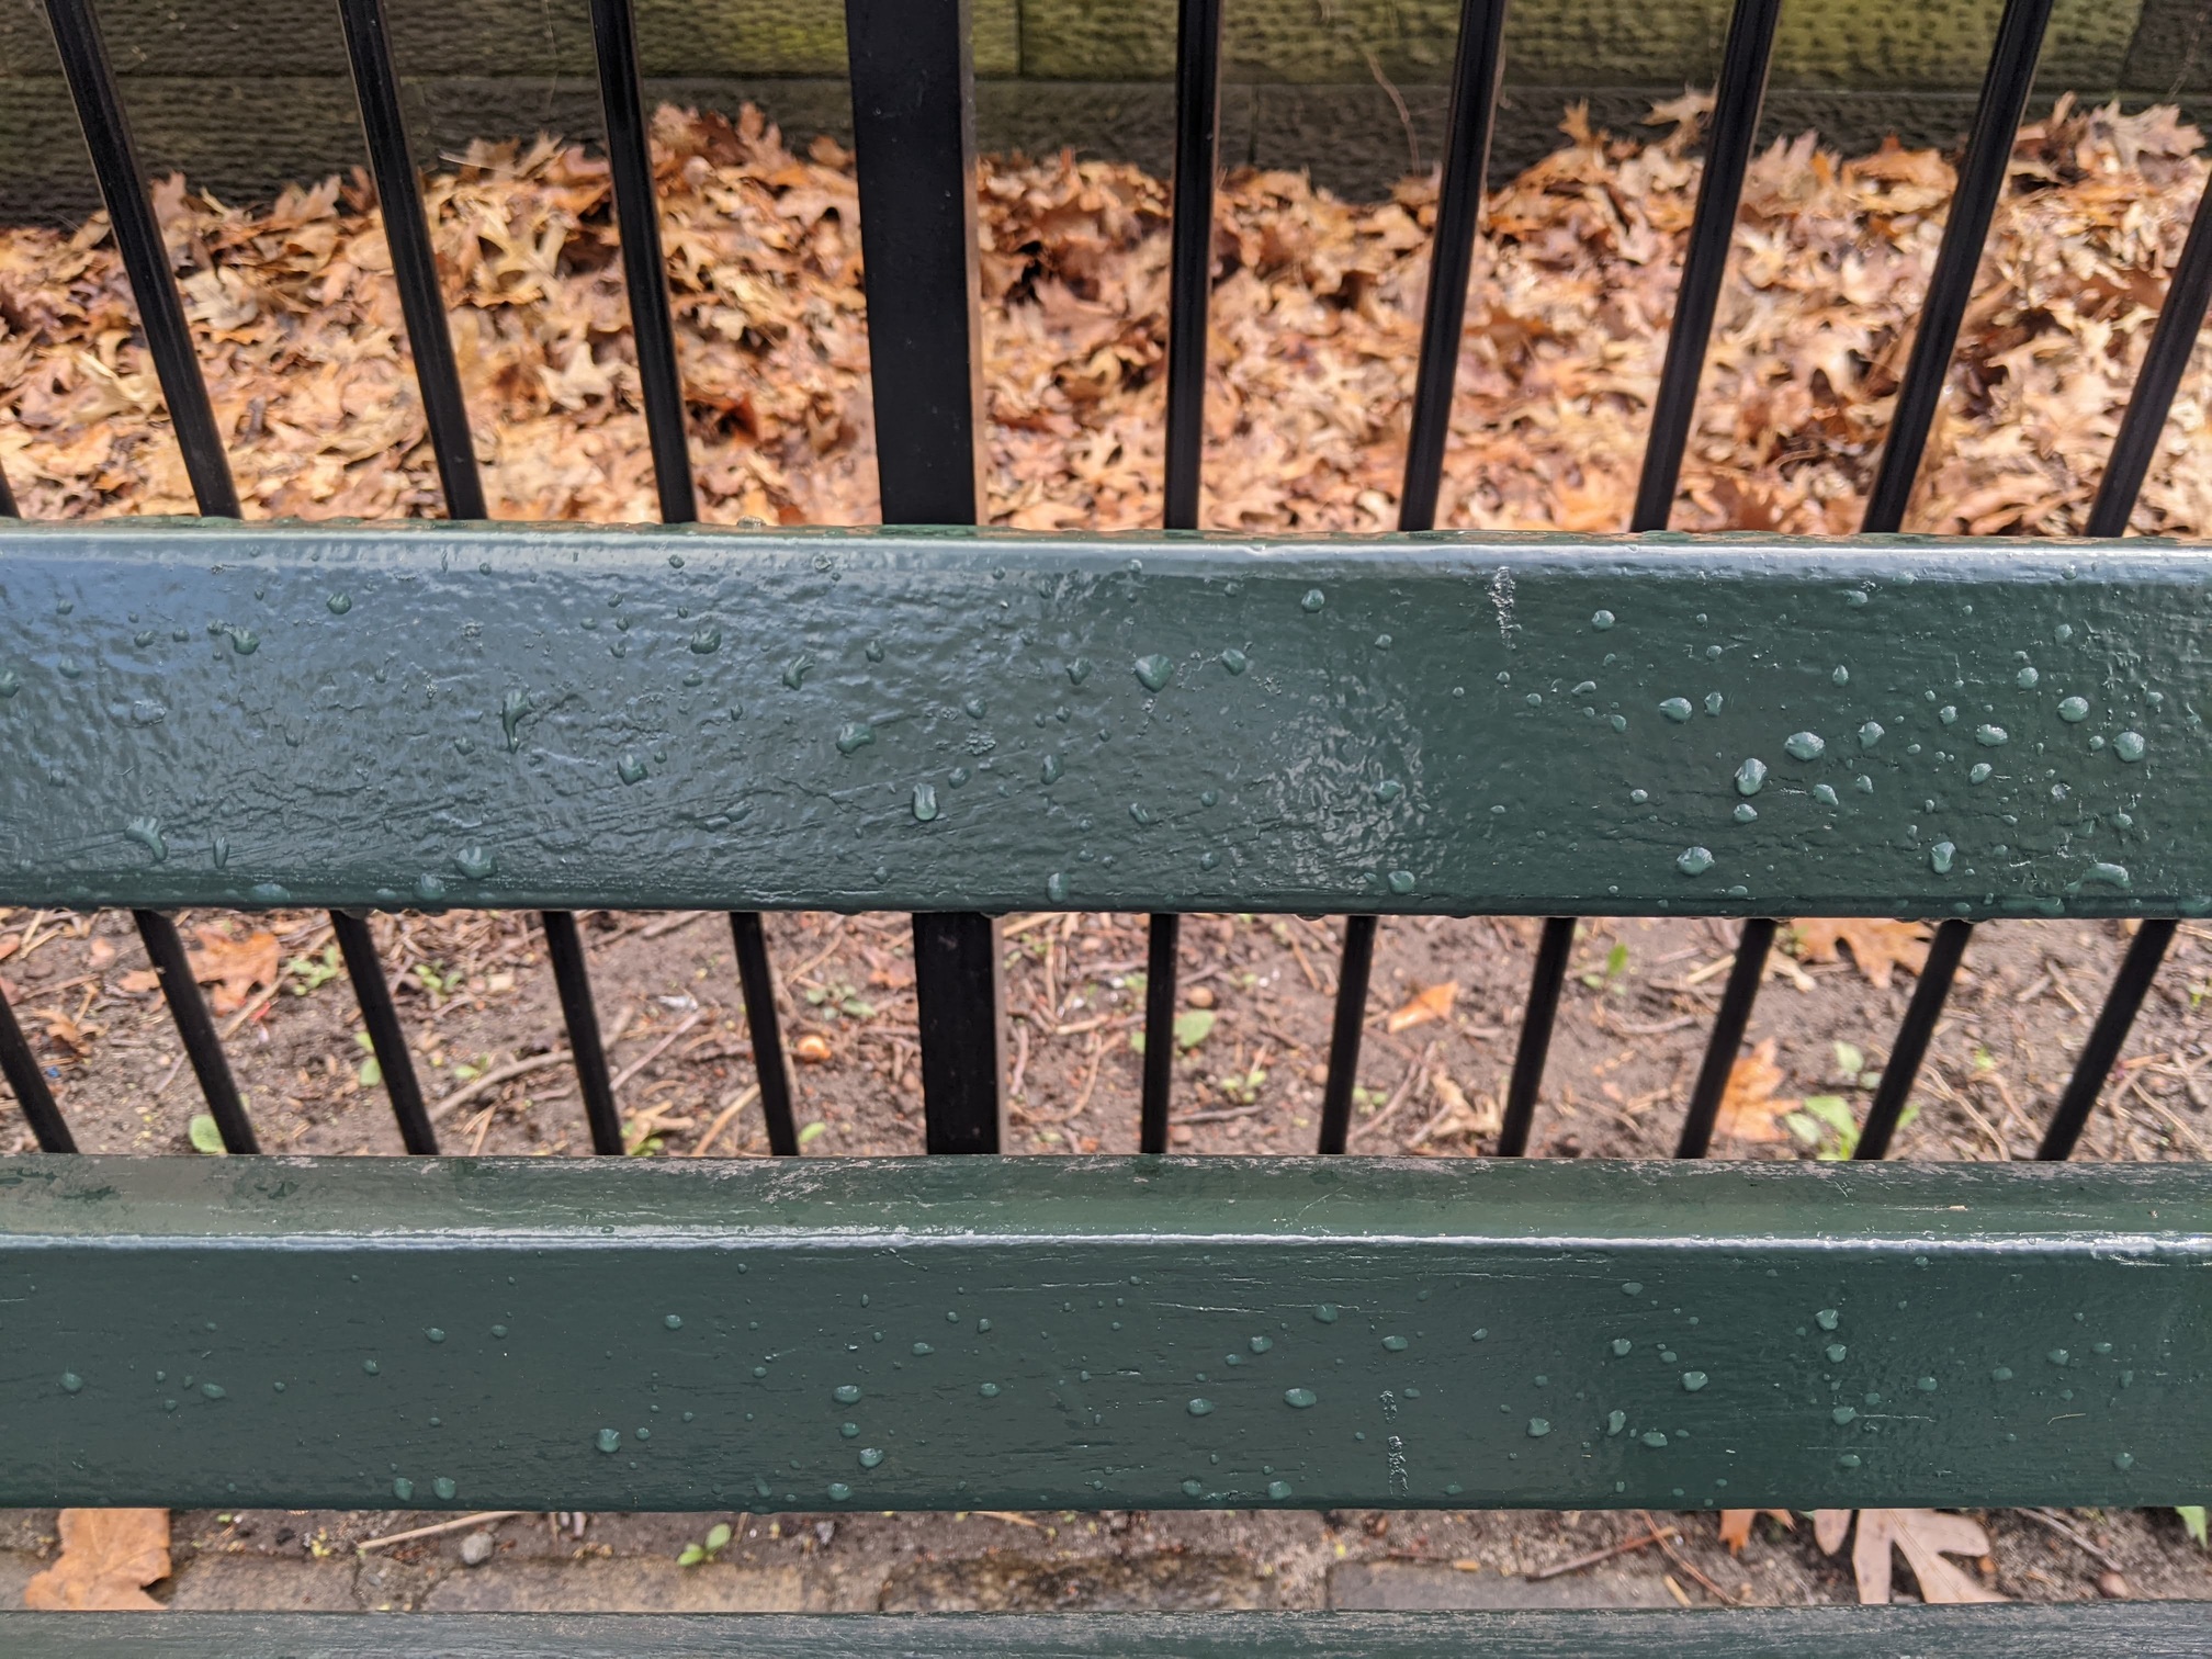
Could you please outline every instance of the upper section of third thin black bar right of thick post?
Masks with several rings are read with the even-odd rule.
[[[1705,376],[1705,347],[1712,343],[1712,316],[1721,303],[1721,279],[1728,274],[1728,246],[1734,241],[1736,208],[1743,201],[1743,173],[1752,164],[1752,144],[1759,137],[1759,106],[1767,93],[1767,60],[1774,55],[1774,24],[1781,11],[1781,0],[1736,0],[1728,22],[1721,84],[1712,100],[1712,128],[1705,133],[1705,168],[1697,179],[1690,246],[1681,261],[1666,365],[1659,369],[1659,396],[1652,398],[1652,429],[1644,442],[1644,473],[1628,520],[1632,531],[1663,531],[1674,513],[1674,487],[1681,482],[1681,456],[1690,442],[1690,418],[1697,414],[1697,387]]]

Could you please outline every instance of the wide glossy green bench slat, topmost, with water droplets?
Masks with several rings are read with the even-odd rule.
[[[2146,542],[9,526],[0,905],[2201,914],[2208,604]]]

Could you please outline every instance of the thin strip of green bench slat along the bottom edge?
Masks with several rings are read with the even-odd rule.
[[[495,1568],[493,1568],[495,1571]],[[2201,1659],[2205,1608],[1743,1613],[0,1613],[11,1659]]]

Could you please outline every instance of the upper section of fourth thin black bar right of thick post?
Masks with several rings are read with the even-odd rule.
[[[1960,157],[1958,188],[1951,192],[1951,212],[1942,226],[1936,274],[1920,301],[1920,327],[1905,363],[1905,380],[1898,385],[1896,414],[1882,445],[1882,465],[1874,476],[1874,491],[1867,495],[1865,529],[1869,533],[1887,533],[1905,524],[1913,478],[1920,473],[1920,456],[1927,449],[1929,429],[1936,425],[1944,380],[1951,378],[1951,349],[1958,345],[1966,301],[1973,299],[1973,274],[1982,265],[1989,221],[2004,192],[2013,135],[2020,133],[2020,117],[2035,88],[2035,60],[2044,46],[2051,4],[2053,0],[2004,0],[1997,44],[1989,55],[1989,71],[1982,75],[1982,97],[1973,111],[1973,131],[1966,139],[1966,153]]]

